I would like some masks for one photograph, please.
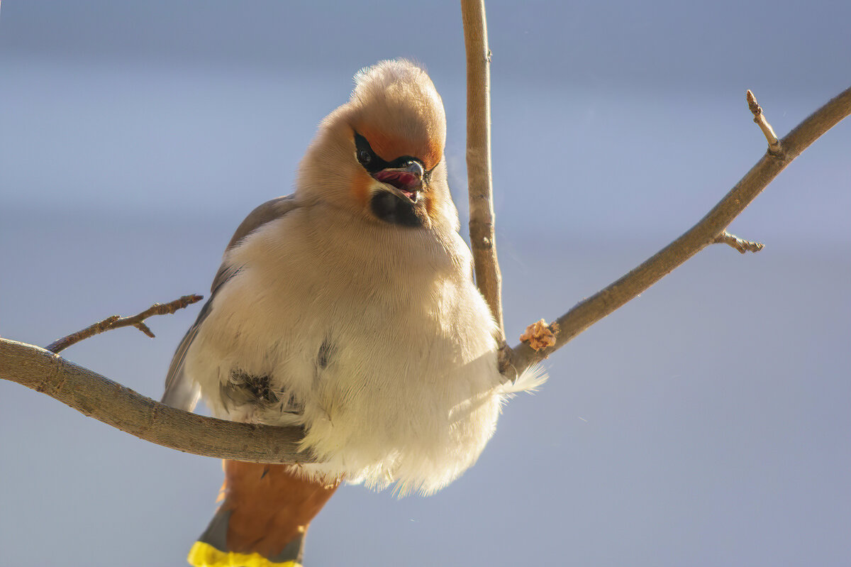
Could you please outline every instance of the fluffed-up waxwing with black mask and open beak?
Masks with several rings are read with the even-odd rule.
[[[342,482],[429,495],[471,467],[506,381],[497,326],[460,237],[443,101],[409,60],[354,77],[319,124],[292,194],[254,209],[168,369],[163,403],[304,427],[315,463],[224,461],[197,567],[301,565],[311,519]]]

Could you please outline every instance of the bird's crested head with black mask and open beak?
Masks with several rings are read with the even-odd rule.
[[[431,79],[408,60],[388,60],[358,72],[355,83],[301,164],[301,197],[376,223],[457,230],[443,160],[446,116]]]

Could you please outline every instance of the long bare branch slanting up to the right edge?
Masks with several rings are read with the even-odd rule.
[[[767,152],[739,183],[705,217],[683,236],[665,246],[641,266],[637,266],[605,289],[580,301],[573,309],[557,318],[560,332],[554,346],[534,351],[522,343],[505,348],[508,358],[506,377],[519,375],[530,364],[540,362],[582,331],[641,294],[677,266],[683,264],[711,243],[747,205],[774,180],[791,161],[842,118],[851,114],[851,89],[846,89],[798,124],[783,140],[782,156]]]

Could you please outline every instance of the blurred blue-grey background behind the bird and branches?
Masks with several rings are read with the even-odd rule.
[[[765,146],[745,89],[783,135],[848,87],[848,21],[835,0],[489,3],[509,334],[739,180]],[[395,56],[443,94],[463,216],[457,3],[6,0],[0,334],[45,345],[205,293],[351,75]],[[851,563],[849,157],[844,123],[734,222],[760,254],[707,249],[553,356],[441,493],[340,490],[308,564]],[[157,398],[196,313],[65,355]],[[220,465],[0,381],[0,480],[3,564],[181,565]]]

